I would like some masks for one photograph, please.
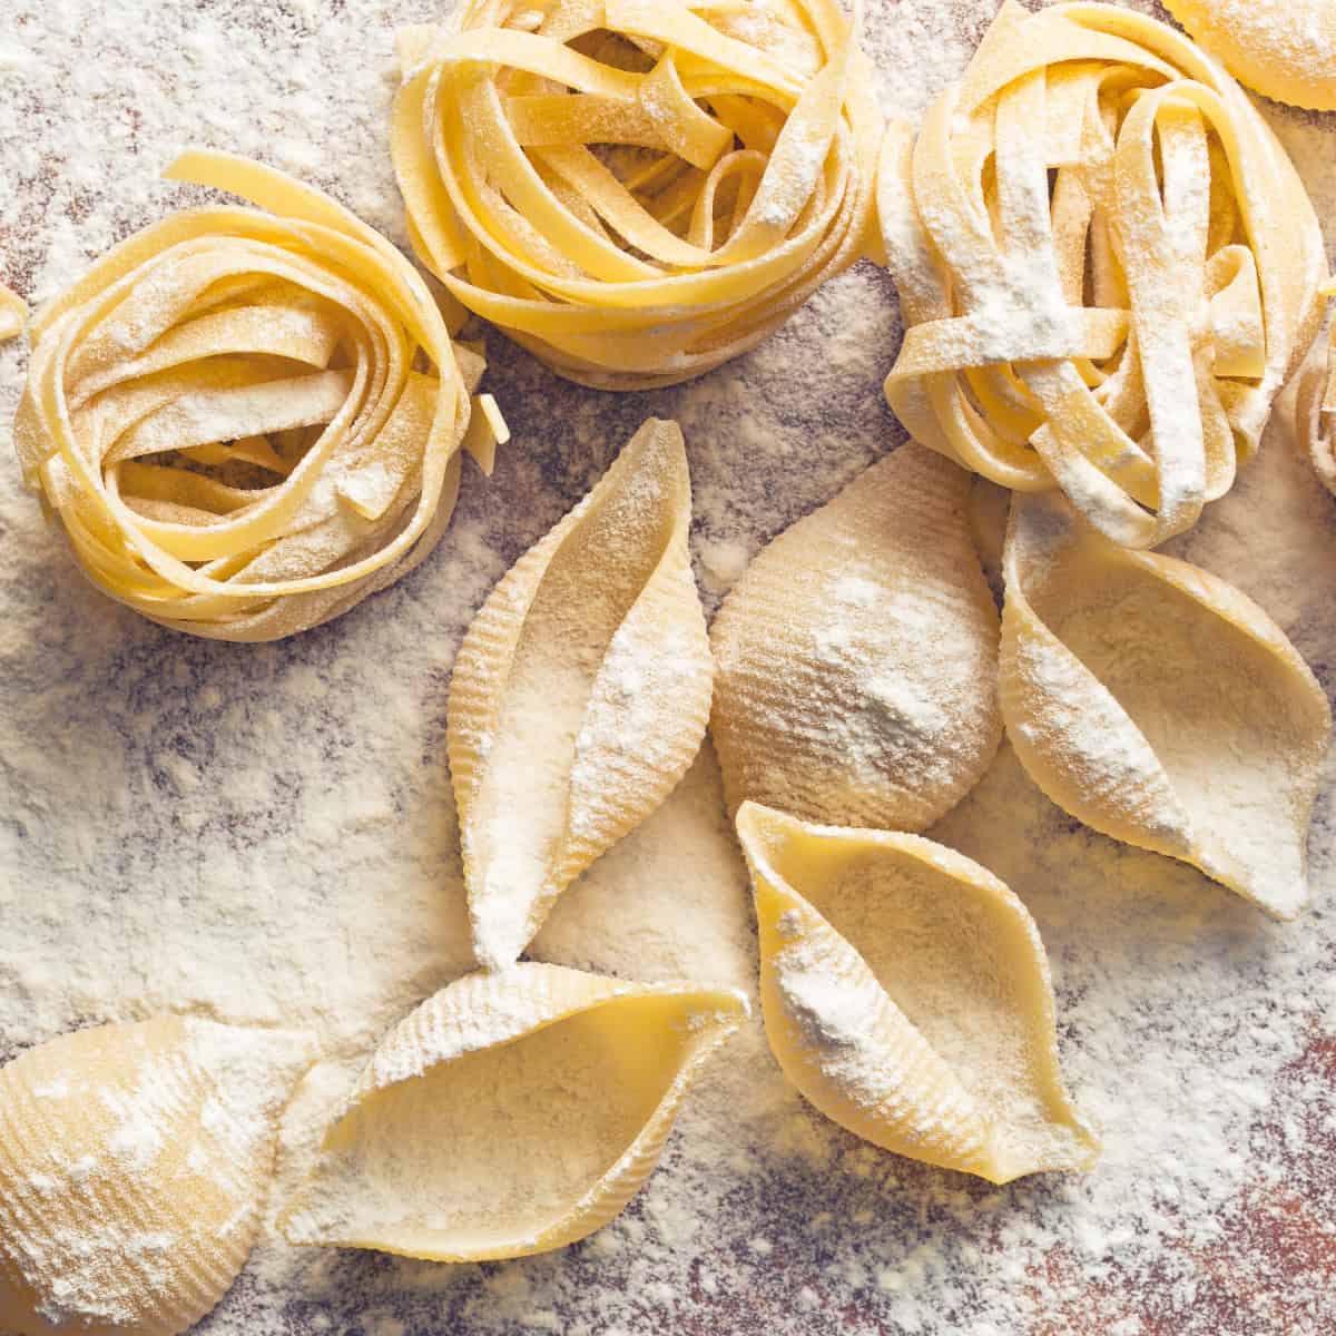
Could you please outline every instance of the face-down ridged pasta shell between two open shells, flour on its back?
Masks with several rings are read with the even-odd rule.
[[[998,615],[970,476],[906,445],[786,529],[711,629],[711,732],[729,804],[923,830],[1002,737]]]

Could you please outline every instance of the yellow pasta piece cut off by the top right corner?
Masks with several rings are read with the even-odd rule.
[[[1336,111],[1336,5],[1331,0],[1165,0],[1229,72],[1276,102]]]

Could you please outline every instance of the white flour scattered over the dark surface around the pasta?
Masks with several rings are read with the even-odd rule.
[[[991,0],[868,0],[888,114],[963,68]],[[202,192],[188,142],[255,154],[403,240],[385,152],[391,35],[428,0],[9,0],[0,32],[0,271],[25,297]],[[1331,122],[1268,107],[1336,211]],[[422,569],[278,645],[194,643],[88,588],[0,458],[0,1054],[164,1009],[313,1031],[278,1198],[365,1057],[466,967],[444,759],[454,649],[498,573],[651,414],[685,433],[711,603],[898,429],[886,277],[859,266],[756,353],[693,385],[600,395],[489,338],[514,432]],[[0,350],[0,422],[25,350]],[[0,457],[8,454],[0,429]],[[1284,410],[1177,554],[1240,584],[1331,685],[1336,524]],[[716,572],[712,574],[712,572]],[[780,1079],[760,1022],[688,1100],[629,1209],[558,1255],[444,1268],[270,1233],[210,1336],[339,1331],[1309,1336],[1336,1284],[1336,822],[1316,908],[1276,926],[1190,868],[1083,831],[1003,747],[933,834],[1001,875],[1054,966],[1066,1075],[1105,1150],[1005,1189],[888,1157]],[[566,892],[534,954],[751,989],[745,876],[707,752]],[[600,1092],[592,1090],[597,1100]],[[40,1172],[40,1170],[39,1170]],[[91,1166],[90,1166],[91,1172]]]

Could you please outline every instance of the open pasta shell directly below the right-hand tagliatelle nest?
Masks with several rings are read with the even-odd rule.
[[[1331,709],[1281,629],[1054,496],[1017,497],[1003,564],[1002,712],[1030,778],[1094,830],[1297,915]]]

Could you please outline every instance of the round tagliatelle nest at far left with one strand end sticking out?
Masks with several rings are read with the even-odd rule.
[[[489,470],[505,429],[485,395],[470,421],[482,358],[346,208],[226,154],[168,175],[273,212],[180,212],[39,313],[15,444],[99,588],[178,631],[275,640],[422,561],[460,448]]]

